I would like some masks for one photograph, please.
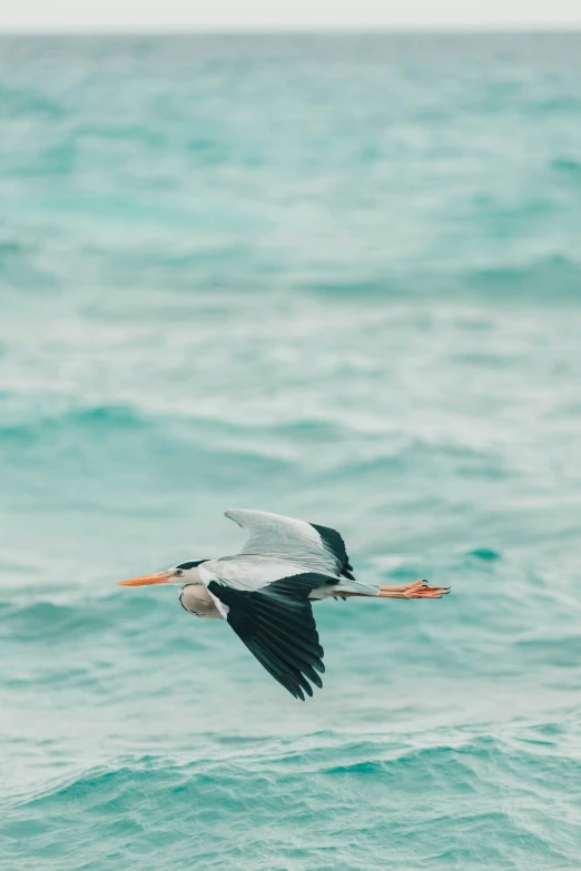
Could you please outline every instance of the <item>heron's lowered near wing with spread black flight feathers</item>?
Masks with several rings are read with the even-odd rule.
[[[308,681],[323,686],[317,672],[325,671],[308,596],[333,583],[333,578],[307,572],[254,592],[219,581],[210,581],[208,590],[228,606],[228,623],[258,662],[295,699],[305,701],[305,693],[313,695]]]

